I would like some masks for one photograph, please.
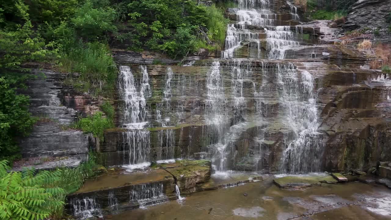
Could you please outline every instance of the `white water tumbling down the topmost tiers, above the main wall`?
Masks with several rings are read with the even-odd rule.
[[[242,46],[244,41],[256,43],[258,58],[260,58],[262,55],[260,48],[262,39],[260,39],[259,31],[247,29],[248,25],[264,27],[269,59],[283,59],[285,51],[289,47],[300,45],[298,41],[294,40],[290,26],[269,28],[269,26],[274,26],[277,14],[270,10],[268,0],[239,0],[236,3],[238,8],[230,9],[230,12],[236,14],[237,23],[228,25],[222,58],[233,58],[235,50]],[[292,20],[299,20],[297,7],[289,1],[287,1],[287,4],[291,7]]]

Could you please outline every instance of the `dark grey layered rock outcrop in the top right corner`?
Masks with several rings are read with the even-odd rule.
[[[364,27],[378,29],[380,36],[377,37],[377,40],[391,43],[391,37],[387,30],[389,23],[386,21],[390,11],[391,2],[389,0],[359,0],[353,4],[343,29],[353,30]]]

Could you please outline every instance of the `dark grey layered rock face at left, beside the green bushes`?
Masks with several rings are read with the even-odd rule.
[[[78,115],[99,109],[88,97],[65,90],[61,82],[64,74],[47,70],[34,70],[35,79],[27,81],[30,112],[39,117],[31,135],[20,142],[23,157],[55,156],[86,159],[88,136],[68,126]]]

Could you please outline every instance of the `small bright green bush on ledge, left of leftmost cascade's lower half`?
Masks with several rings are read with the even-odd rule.
[[[99,137],[103,141],[103,132],[113,125],[108,118],[103,117],[102,112],[96,112],[92,116],[81,118],[76,123],[76,127],[81,128],[84,133],[92,133],[94,137]]]

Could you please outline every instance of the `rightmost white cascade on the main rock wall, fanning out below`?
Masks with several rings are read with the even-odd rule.
[[[294,140],[288,144],[283,153],[284,172],[307,173],[320,171],[320,156],[322,154],[322,134],[317,132],[319,114],[317,113],[316,97],[313,94],[314,78],[303,70],[301,85],[297,79],[286,82],[295,88],[302,88],[306,95],[302,101],[290,89],[289,100],[286,101],[287,123],[292,127]],[[296,91],[297,93],[297,91]]]

